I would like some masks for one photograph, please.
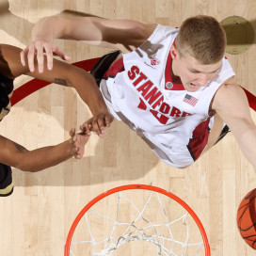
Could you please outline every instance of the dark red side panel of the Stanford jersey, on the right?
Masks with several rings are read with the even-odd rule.
[[[194,161],[200,157],[201,152],[208,142],[208,137],[210,134],[208,128],[209,122],[210,120],[205,120],[195,128],[193,137],[190,139],[189,144],[187,145],[187,149]]]

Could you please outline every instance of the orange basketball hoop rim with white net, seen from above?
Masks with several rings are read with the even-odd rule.
[[[72,223],[64,255],[123,256],[119,252],[126,247],[135,256],[142,246],[131,248],[134,241],[155,246],[150,255],[210,256],[194,211],[174,194],[145,184],[119,186],[89,201]]]

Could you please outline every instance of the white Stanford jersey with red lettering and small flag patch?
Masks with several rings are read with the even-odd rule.
[[[173,83],[169,51],[178,31],[158,24],[148,40],[105,73],[101,90],[118,120],[135,130],[165,163],[185,167],[206,146],[210,103],[234,72],[224,57],[216,76],[198,91]]]

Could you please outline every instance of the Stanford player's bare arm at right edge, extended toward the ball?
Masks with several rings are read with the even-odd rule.
[[[244,90],[235,84],[223,85],[216,92],[213,108],[228,124],[241,151],[256,172],[256,126],[251,119]]]

